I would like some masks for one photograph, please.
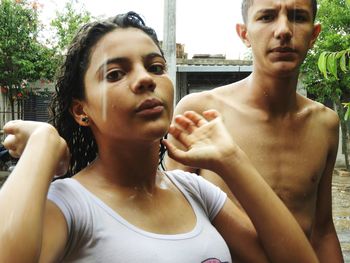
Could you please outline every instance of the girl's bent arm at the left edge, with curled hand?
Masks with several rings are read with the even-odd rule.
[[[45,243],[51,244],[51,239],[57,245],[51,255],[59,254],[67,238],[63,216],[46,199],[60,160],[67,159],[67,146],[46,123],[10,122],[4,131],[9,134],[4,146],[22,155],[0,190],[0,262],[38,262],[43,237]],[[50,224],[56,228],[48,235]]]

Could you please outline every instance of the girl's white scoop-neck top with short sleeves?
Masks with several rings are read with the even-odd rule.
[[[226,200],[218,187],[195,174],[167,172],[196,215],[188,233],[162,235],[144,231],[123,219],[72,178],[57,180],[48,199],[63,212],[69,240],[62,262],[223,263],[229,249],[211,224]]]

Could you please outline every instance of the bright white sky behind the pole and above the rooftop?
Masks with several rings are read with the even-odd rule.
[[[176,0],[176,42],[193,54],[224,54],[227,59],[243,58],[247,48],[238,38],[236,23],[241,19],[240,0]],[[41,17],[50,21],[66,0],[40,0]],[[164,0],[79,0],[93,16],[109,17],[135,11],[163,39]]]

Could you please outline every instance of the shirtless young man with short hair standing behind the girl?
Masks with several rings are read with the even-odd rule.
[[[331,198],[339,120],[334,111],[296,92],[300,65],[321,30],[314,24],[316,10],[316,0],[244,0],[244,24],[236,29],[252,49],[252,74],[186,96],[175,115],[221,112],[232,137],[294,214],[320,261],[343,262]],[[196,170],[171,159],[166,168]],[[233,198],[220,177],[199,172]]]

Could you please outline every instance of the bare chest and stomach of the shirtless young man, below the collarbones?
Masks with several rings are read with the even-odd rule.
[[[329,145],[313,118],[261,118],[224,111],[232,137],[306,232],[311,227]]]

